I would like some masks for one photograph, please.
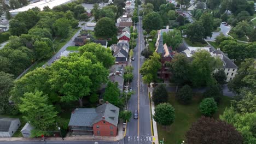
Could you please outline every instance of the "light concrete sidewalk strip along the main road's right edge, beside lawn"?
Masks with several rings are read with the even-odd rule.
[[[150,87],[148,88],[148,92],[150,93],[150,99],[152,98],[153,89],[154,89],[153,88],[153,83],[150,83]],[[151,101],[150,106],[151,106],[151,115],[152,115],[152,122],[153,122],[153,131],[154,131],[153,142],[155,144],[159,144],[159,140],[158,140],[158,127],[156,125],[155,120],[153,119],[153,115],[155,114],[155,104],[154,104],[153,101]]]

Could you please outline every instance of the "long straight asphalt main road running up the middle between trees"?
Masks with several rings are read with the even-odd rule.
[[[125,143],[152,143],[152,127],[150,124],[150,105],[148,97],[147,84],[143,83],[142,76],[139,74],[144,57],[141,56],[141,51],[145,49],[144,35],[142,29],[142,17],[139,17],[139,22],[136,26],[138,30],[137,46],[133,50],[135,61],[132,61],[133,81],[131,87],[135,91],[127,106],[132,113],[138,110],[138,119],[131,118],[127,123]]]

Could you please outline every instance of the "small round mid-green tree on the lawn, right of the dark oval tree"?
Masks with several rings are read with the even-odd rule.
[[[213,98],[205,98],[200,103],[199,110],[205,116],[212,116],[217,111],[217,103]]]

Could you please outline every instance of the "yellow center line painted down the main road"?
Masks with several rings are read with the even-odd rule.
[[[139,20],[139,26],[140,26],[140,20]],[[140,44],[141,44],[141,41],[140,41],[140,28],[138,26],[138,114],[139,114],[139,58],[140,58],[140,54],[141,54],[141,50],[140,50]],[[138,117],[138,136],[139,136],[139,117]]]

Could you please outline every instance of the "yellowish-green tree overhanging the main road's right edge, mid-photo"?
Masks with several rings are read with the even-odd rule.
[[[158,70],[161,68],[160,55],[154,52],[153,56],[150,56],[147,61],[145,61],[139,70],[142,75],[142,79],[145,83],[153,82],[157,79]]]

